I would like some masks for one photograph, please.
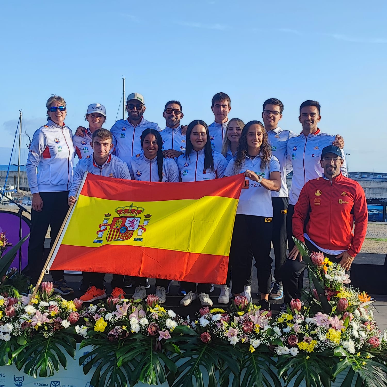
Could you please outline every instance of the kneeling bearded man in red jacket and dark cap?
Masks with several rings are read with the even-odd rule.
[[[363,245],[368,214],[363,188],[342,175],[342,163],[340,148],[330,145],[322,150],[320,164],[324,174],[309,180],[302,188],[292,223],[293,235],[303,241],[308,250],[324,253],[348,272]],[[285,305],[296,296],[298,277],[306,266],[295,246],[283,266]]]

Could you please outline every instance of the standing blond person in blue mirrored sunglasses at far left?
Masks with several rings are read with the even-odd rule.
[[[48,121],[33,135],[27,157],[27,178],[32,194],[31,235],[28,245],[28,275],[36,283],[43,269],[44,242],[51,227],[52,247],[68,211],[72,183],[74,146],[72,132],[65,123],[66,102],[53,95],[47,103]],[[38,172],[37,172],[38,171]],[[63,271],[51,271],[57,293],[74,293]]]

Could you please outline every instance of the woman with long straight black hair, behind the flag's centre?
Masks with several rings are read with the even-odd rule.
[[[185,154],[177,159],[182,182],[200,182],[221,178],[227,166],[227,161],[221,153],[212,151],[207,124],[202,120],[192,121],[185,134]],[[199,188],[200,189],[200,188]],[[209,296],[210,284],[180,282],[186,295],[180,300],[180,305],[187,307],[196,300],[199,293],[203,306],[212,306]]]

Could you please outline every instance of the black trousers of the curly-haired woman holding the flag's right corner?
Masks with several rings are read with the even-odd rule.
[[[271,217],[236,214],[226,280],[229,286],[232,277],[234,294],[242,293],[245,285],[251,284],[253,257],[259,291],[270,293],[272,231]]]

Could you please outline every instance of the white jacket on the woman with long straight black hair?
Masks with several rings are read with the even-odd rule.
[[[177,158],[177,166],[182,182],[200,182],[202,180],[213,180],[221,178],[227,166],[223,154],[212,151],[214,157],[214,170],[204,169],[204,151],[192,150],[189,155],[182,154]]]

